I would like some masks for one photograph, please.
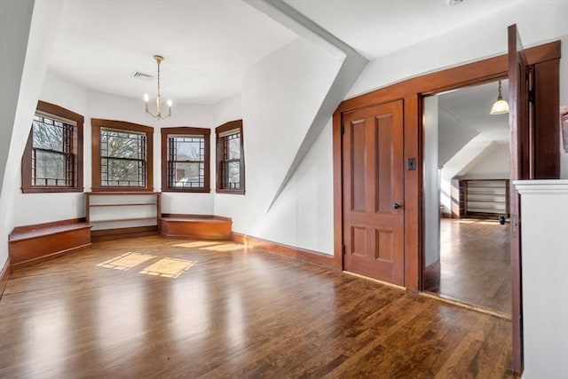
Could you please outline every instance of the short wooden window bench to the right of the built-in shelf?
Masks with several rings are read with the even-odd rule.
[[[163,237],[224,241],[231,238],[232,225],[230,217],[175,214],[160,217]]]

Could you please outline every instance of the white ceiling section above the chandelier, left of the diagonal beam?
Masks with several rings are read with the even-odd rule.
[[[214,104],[241,91],[252,64],[297,36],[240,0],[64,0],[49,67],[83,86],[142,99]]]

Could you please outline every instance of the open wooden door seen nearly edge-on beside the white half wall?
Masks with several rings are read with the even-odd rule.
[[[523,44],[517,26],[509,27],[509,172],[511,220],[511,280],[512,280],[512,368],[523,371],[523,299],[521,280],[521,218],[520,196],[514,180],[532,178],[531,131],[529,112],[529,77]]]

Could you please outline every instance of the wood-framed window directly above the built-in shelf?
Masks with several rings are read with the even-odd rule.
[[[154,129],[91,119],[92,190],[152,191]]]

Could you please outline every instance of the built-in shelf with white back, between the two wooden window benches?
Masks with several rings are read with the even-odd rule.
[[[93,241],[160,232],[161,193],[85,193]]]

